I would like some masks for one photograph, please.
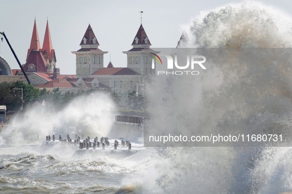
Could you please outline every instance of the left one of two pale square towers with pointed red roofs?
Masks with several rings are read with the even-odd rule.
[[[81,49],[72,52],[76,54],[77,77],[91,75],[96,70],[102,68],[103,55],[108,53],[98,48],[99,43],[90,24],[83,35],[80,46]]]

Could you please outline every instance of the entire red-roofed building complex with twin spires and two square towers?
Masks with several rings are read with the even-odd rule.
[[[115,67],[112,62],[104,67],[104,54],[108,52],[99,49],[99,42],[89,24],[80,42],[81,48],[72,52],[76,55],[76,75],[60,75],[59,68],[56,68],[48,21],[41,48],[35,20],[23,67],[33,85],[48,91],[55,88],[59,88],[61,92],[111,88],[125,94],[125,97],[133,90],[141,94],[138,86],[143,85],[143,77],[154,74],[151,53],[158,52],[150,48],[151,43],[142,24],[131,45],[130,50],[123,52],[127,55],[127,67]],[[18,69],[12,69],[11,72],[13,75],[23,75]]]

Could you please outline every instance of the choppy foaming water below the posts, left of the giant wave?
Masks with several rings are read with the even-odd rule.
[[[133,153],[78,150],[61,143],[45,149],[40,144],[9,146],[1,139],[0,193],[136,193],[140,186],[125,178],[130,180],[144,160]]]

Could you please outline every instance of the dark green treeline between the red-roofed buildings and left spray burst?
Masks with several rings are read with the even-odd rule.
[[[19,89],[23,89],[23,99],[21,90]],[[117,104],[119,104],[121,100],[119,94],[113,92],[111,89],[104,90],[99,88],[91,88],[86,91],[79,90],[77,93],[61,93],[59,88],[50,92],[45,88],[40,90],[33,85],[25,84],[23,81],[16,81],[0,83],[0,105],[6,105],[7,111],[16,111],[20,110],[22,102],[24,109],[27,109],[35,101],[42,103],[42,100],[45,100],[53,104],[55,109],[62,109],[75,97],[91,94],[93,92],[106,92]]]

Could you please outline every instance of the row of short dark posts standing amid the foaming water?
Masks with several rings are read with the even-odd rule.
[[[93,148],[93,150],[95,150],[96,147],[100,147],[100,143],[102,144],[102,149],[104,150],[105,149],[105,146],[110,146],[110,142],[108,141],[108,137],[101,137],[100,138],[100,142],[97,141],[97,136],[94,138],[94,142],[93,142],[93,145],[91,144],[91,141],[90,141],[90,137],[87,136],[86,139],[84,139],[84,135],[82,134],[82,139],[83,139],[83,142],[80,142],[80,136],[78,136],[77,134],[75,135],[75,140],[74,140],[74,144],[77,145],[77,143],[79,143],[79,149],[83,149],[86,147],[86,150],[88,150],[89,148]],[[45,137],[45,140],[46,141],[51,141],[51,136],[50,135],[47,135]],[[53,139],[52,141],[55,141],[55,135],[53,135]],[[70,138],[70,136],[67,134],[67,137],[66,139],[62,139],[62,136],[59,135],[59,141],[60,142],[70,142],[72,143],[72,139]],[[128,150],[131,150],[131,143],[129,141],[124,141],[122,140],[122,146],[128,146]],[[114,144],[114,149],[117,150],[117,147],[119,146],[119,142],[117,140],[115,140],[115,144]]]

